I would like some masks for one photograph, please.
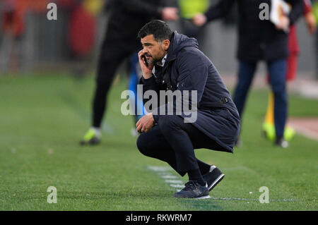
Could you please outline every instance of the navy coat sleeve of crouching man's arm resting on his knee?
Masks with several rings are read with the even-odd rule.
[[[153,115],[156,123],[160,120],[160,116],[163,116],[160,114],[161,111],[164,111],[165,115],[173,113],[185,118],[199,108],[199,102],[208,78],[208,66],[201,60],[200,56],[191,52],[180,54],[176,63],[178,77],[177,91],[174,93],[180,93],[180,95],[177,95],[179,97],[175,97],[172,102],[167,102],[158,107],[155,111],[156,114]],[[184,104],[187,107],[184,107]]]

